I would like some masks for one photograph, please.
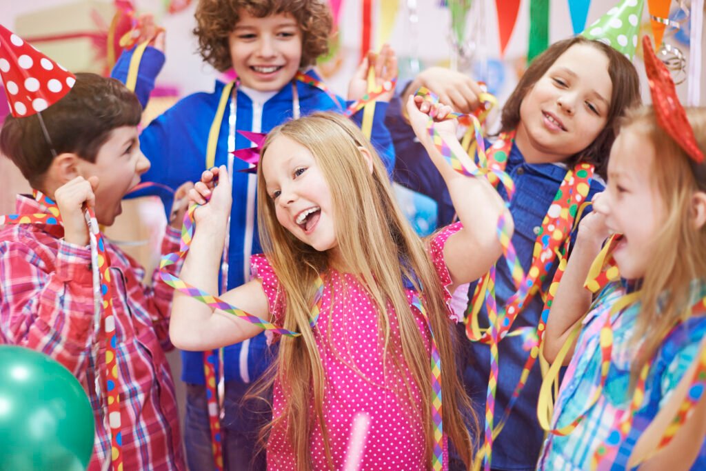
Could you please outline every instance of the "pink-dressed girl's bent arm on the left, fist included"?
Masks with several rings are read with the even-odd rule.
[[[215,177],[218,177],[217,185],[214,185]],[[191,249],[179,278],[215,294],[218,292],[220,256],[231,205],[231,188],[225,166],[203,172],[201,181],[189,192],[189,196],[202,206],[195,213],[196,228]],[[205,198],[208,196],[210,201],[207,203]],[[268,299],[257,280],[236,287],[221,298],[253,316],[269,318]],[[174,346],[181,350],[225,347],[254,337],[262,330],[232,314],[214,310],[186,294],[174,294],[169,335]]]

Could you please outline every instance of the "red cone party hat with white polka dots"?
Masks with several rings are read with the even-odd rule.
[[[0,25],[0,76],[13,117],[42,112],[71,90],[76,76]]]

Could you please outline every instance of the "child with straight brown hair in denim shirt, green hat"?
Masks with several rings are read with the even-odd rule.
[[[438,80],[441,76],[432,72],[431,77],[422,73],[412,86],[421,84],[432,91],[437,88],[445,90],[444,83]],[[546,275],[533,280],[542,292],[548,292],[558,266],[554,251],[550,255],[553,259],[549,258],[549,261],[543,256],[541,259],[533,256],[539,252],[537,247],[543,244],[542,237],[554,233],[554,229],[545,227],[545,215],[555,204],[555,196],[571,187],[567,171],[573,170],[571,175],[576,175],[581,168],[578,165],[582,163],[594,167],[594,177],[590,179],[590,188],[583,198],[590,201],[594,193],[601,191],[603,185],[599,177],[605,176],[606,160],[614,139],[614,122],[639,97],[638,74],[630,61],[602,42],[578,36],[552,44],[534,59],[503,108],[501,134],[490,155],[500,163],[506,162],[505,171],[515,181],[515,195],[510,201],[510,213],[515,220],[512,242],[525,273],[532,275],[537,268],[546,269]],[[460,101],[460,97],[455,100]],[[401,117],[395,119],[397,125],[390,125],[397,152],[395,179],[431,196],[437,201],[440,214],[452,217],[448,191],[445,191],[438,172],[429,169],[426,153],[421,146],[412,143],[411,138],[406,139],[407,144],[403,147],[400,141],[404,139],[398,137],[403,132]],[[498,187],[498,191],[507,197],[505,189]],[[578,193],[578,188],[574,185],[572,191]],[[575,222],[569,218],[566,224],[570,228]],[[557,241],[560,248],[566,239],[574,240],[575,231],[561,235]],[[474,288],[475,284],[468,292],[469,297],[474,294]],[[498,263],[495,290],[498,311],[504,311],[501,308],[507,306],[517,292],[505,263]],[[520,314],[513,330],[535,329],[539,324],[544,305],[542,297],[536,291],[530,291],[523,304],[517,309]],[[485,306],[479,318],[481,326],[488,325]],[[467,328],[470,326],[469,323]],[[463,328],[459,326],[459,331],[465,338],[467,333],[462,332]],[[505,337],[499,342],[495,425],[508,407],[530,355],[523,344],[522,337]],[[465,386],[476,412],[484,416],[491,371],[490,349],[481,342],[465,341],[464,345]],[[534,469],[543,439],[536,410],[541,382],[539,366],[534,364],[502,433],[493,442],[493,469]]]

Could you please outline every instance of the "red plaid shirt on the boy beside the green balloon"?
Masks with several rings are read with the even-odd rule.
[[[31,197],[18,196],[17,213],[42,213]],[[95,415],[94,453],[88,469],[109,459],[110,429],[104,390],[105,346],[94,328],[90,249],[64,242],[63,228],[0,227],[0,343],[49,355],[85,388]],[[179,234],[167,227],[162,254],[179,249]],[[153,287],[144,270],[106,243],[114,289],[117,364],[125,470],[185,470],[172,373],[164,356],[169,342],[173,290],[155,271]],[[170,270],[178,270],[170,266]]]

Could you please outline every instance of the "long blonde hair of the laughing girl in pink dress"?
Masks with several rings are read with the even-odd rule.
[[[397,316],[400,345],[405,364],[419,387],[424,403],[419,413],[426,430],[426,459],[431,465],[433,424],[431,419],[431,366],[429,354],[407,302],[402,278],[411,280],[426,308],[441,355],[443,390],[443,430],[467,465],[472,463],[473,443],[463,419],[472,415],[469,400],[458,379],[453,328],[443,300],[442,287],[424,242],[419,239],[395,203],[395,196],[383,163],[361,131],[347,118],[335,113],[316,113],[289,121],[268,135],[262,157],[279,136],[303,145],[316,159],[330,187],[335,231],[342,258],[350,273],[359,277],[378,309],[378,328],[383,335],[385,354],[397,357],[390,342],[391,308]],[[373,171],[359,148],[373,156]],[[270,383],[282,384],[286,401],[269,429],[286,421],[287,440],[297,456],[297,469],[311,467],[309,440],[313,426],[323,431],[325,453],[333,466],[328,435],[323,421],[325,374],[312,329],[309,312],[313,304],[314,282],[328,268],[328,254],[300,242],[277,222],[275,206],[265,191],[262,165],[258,167],[258,227],[261,245],[280,287],[285,293],[284,327],[301,332],[299,338],[283,337],[273,365]],[[345,217],[342,217],[345,215]],[[399,366],[399,365],[397,365]],[[313,405],[313,417],[310,407]]]

